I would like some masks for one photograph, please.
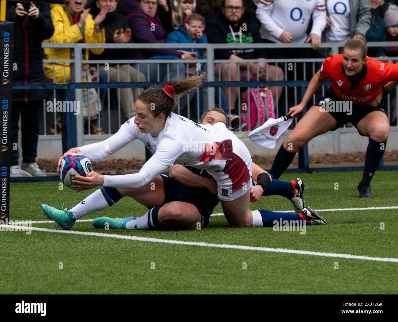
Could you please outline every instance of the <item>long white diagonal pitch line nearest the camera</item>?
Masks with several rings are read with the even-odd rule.
[[[14,228],[14,229],[18,228],[17,225],[4,225],[4,226],[6,226],[8,228]],[[230,245],[230,244],[210,244],[210,243],[205,243],[205,242],[185,242],[182,240],[148,238],[148,237],[141,237],[141,236],[124,236],[124,235],[117,235],[117,234],[105,234],[102,232],[57,230],[57,229],[48,229],[48,228],[39,228],[39,227],[32,227],[31,230],[42,231],[42,232],[56,232],[56,233],[60,233],[60,234],[75,234],[75,235],[86,235],[86,236],[96,236],[96,237],[128,239],[128,240],[137,240],[140,242],[158,242],[158,243],[164,243],[164,244],[179,244],[179,245],[228,248],[228,249],[238,249],[238,250],[257,250],[257,251],[261,251],[261,252],[313,255],[313,256],[322,256],[322,257],[334,257],[334,258],[337,257],[337,258],[348,258],[348,259],[354,259],[354,260],[369,260],[369,261],[376,261],[376,262],[398,263],[398,258],[370,257],[370,256],[359,256],[359,255],[350,255],[350,254],[311,252],[309,250],[294,250],[294,249],[286,249],[286,248],[253,247],[253,246]]]

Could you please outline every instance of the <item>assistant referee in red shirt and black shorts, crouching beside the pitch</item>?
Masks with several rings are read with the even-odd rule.
[[[289,113],[297,116],[325,80],[330,80],[332,87],[325,92],[318,105],[305,113],[283,142],[269,173],[273,178],[279,178],[296,152],[308,141],[351,122],[360,135],[369,137],[358,190],[359,197],[372,198],[370,182],[384,154],[390,129],[386,108],[380,101],[398,84],[398,64],[387,64],[367,57],[365,38],[356,36],[347,41],[343,54],[326,58],[308,85],[301,103],[291,107]],[[351,111],[348,108],[344,111],[329,111],[332,101],[340,109],[352,104]]]

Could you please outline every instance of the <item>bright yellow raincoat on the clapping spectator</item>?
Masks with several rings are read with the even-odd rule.
[[[71,18],[66,5],[51,4],[51,18],[53,19],[54,35],[43,43],[78,43],[83,39],[83,35],[77,23],[72,24]],[[86,22],[84,23],[84,43],[105,43],[105,31],[103,28],[100,32],[94,29],[94,19],[91,14],[87,15]],[[103,52],[103,48],[90,49],[92,53],[99,55]],[[88,49],[84,53],[85,59],[88,59]],[[44,48],[44,59],[70,59],[69,48]],[[45,63],[44,72],[48,78],[53,79],[53,64]],[[70,64],[65,64],[65,80],[64,80],[64,64],[55,64],[55,82],[63,83],[64,81],[70,82]],[[81,82],[81,80],[76,80]]]

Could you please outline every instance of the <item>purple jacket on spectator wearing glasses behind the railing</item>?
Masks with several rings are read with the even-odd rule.
[[[131,38],[135,43],[166,43],[166,34],[157,16],[145,14],[135,0],[121,0],[117,4],[117,11],[129,21]],[[154,23],[154,28],[151,24]],[[182,53],[176,49],[133,49],[131,59],[148,59],[152,56],[171,55],[181,57]]]

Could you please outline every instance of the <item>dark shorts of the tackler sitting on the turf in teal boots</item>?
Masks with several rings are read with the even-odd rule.
[[[213,195],[206,188],[187,187],[162,174],[164,201],[162,206],[172,201],[183,201],[191,203],[198,210],[202,217],[202,227],[206,227],[210,221],[210,215],[219,203],[217,195]]]

